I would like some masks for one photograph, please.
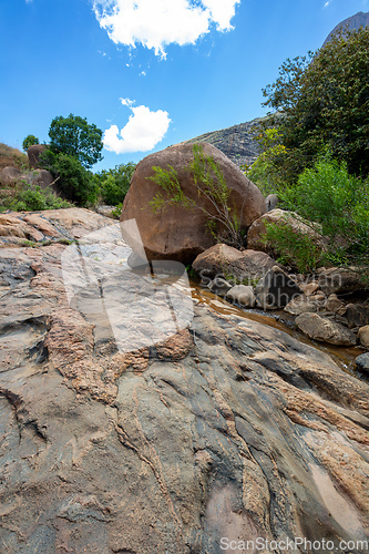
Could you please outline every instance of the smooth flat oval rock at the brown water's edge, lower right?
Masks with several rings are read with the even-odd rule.
[[[301,314],[295,322],[310,339],[337,346],[356,345],[356,337],[347,327],[317,314]]]

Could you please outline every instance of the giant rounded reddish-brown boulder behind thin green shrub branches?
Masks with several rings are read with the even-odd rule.
[[[213,156],[219,165],[230,197],[228,201],[233,213],[240,218],[244,229],[266,212],[265,201],[259,189],[235,166],[221,151],[211,144],[203,144],[204,154]],[[154,212],[150,203],[163,189],[151,181],[153,166],[165,170],[172,166],[178,176],[178,182],[186,196],[195,201],[207,212],[214,214],[212,202],[198,195],[193,183],[193,176],[187,170],[193,160],[193,145],[177,144],[162,152],[151,154],[137,165],[131,187],[125,196],[121,220],[135,219],[146,255],[151,259],[175,259],[192,263],[195,257],[216,243],[207,227],[208,217],[198,207],[184,208],[171,204]],[[129,244],[135,248],[135,242],[125,236]]]

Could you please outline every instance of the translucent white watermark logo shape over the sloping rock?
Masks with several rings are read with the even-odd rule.
[[[155,347],[193,320],[185,266],[150,261],[135,219],[84,235],[64,250],[61,263],[69,305],[96,336],[106,334],[107,320],[121,353]]]

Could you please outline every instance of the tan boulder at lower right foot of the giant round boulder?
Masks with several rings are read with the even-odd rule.
[[[223,275],[235,283],[255,284],[276,261],[264,252],[237,250],[225,244],[216,244],[199,254],[192,267],[204,278]]]

